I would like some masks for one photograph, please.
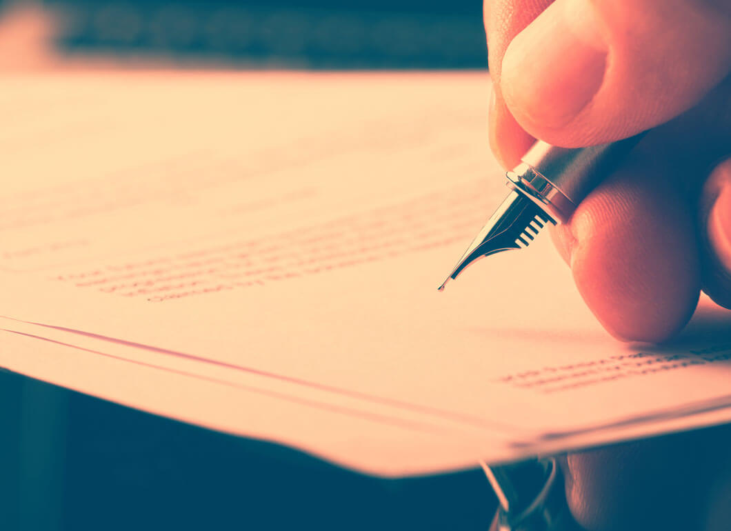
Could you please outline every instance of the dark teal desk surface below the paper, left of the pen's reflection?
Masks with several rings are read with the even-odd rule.
[[[383,480],[0,372],[3,530],[485,530],[479,470]]]

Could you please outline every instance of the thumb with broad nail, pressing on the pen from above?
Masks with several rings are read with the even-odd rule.
[[[505,52],[507,107],[531,135],[566,147],[662,124],[731,69],[731,6],[713,4],[556,0]]]

